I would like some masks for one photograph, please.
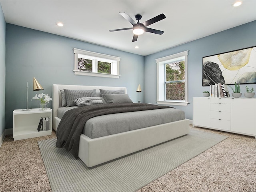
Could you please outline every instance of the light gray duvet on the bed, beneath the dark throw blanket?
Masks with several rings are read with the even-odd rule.
[[[66,111],[77,107],[58,108],[58,118],[61,119]],[[82,133],[90,138],[98,138],[183,119],[184,111],[175,108],[108,114],[87,120]]]

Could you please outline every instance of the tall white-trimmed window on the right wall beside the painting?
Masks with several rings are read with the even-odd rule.
[[[157,103],[188,104],[188,51],[156,59]]]

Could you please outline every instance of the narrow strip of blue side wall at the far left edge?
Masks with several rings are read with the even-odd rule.
[[[6,22],[0,4],[0,136],[5,128],[5,27]]]

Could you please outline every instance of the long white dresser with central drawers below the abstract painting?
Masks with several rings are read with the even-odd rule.
[[[194,97],[193,126],[256,138],[256,98]]]

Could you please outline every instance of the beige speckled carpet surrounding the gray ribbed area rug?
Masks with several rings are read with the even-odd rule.
[[[204,128],[228,136],[138,192],[255,192],[256,139]],[[51,136],[13,141],[0,147],[0,192],[51,192],[37,141]]]

